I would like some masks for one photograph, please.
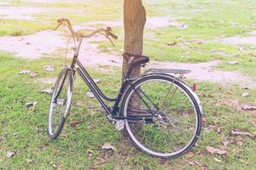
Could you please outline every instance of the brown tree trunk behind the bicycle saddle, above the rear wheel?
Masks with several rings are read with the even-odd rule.
[[[125,53],[143,54],[143,31],[146,11],[142,0],[124,0]],[[123,78],[128,70],[128,61],[123,61]],[[138,77],[141,68],[132,71],[131,77]]]

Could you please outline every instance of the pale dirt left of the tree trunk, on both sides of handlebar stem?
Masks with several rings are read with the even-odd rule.
[[[102,40],[97,36],[93,40]],[[0,50],[25,59],[39,59],[56,54],[67,45],[67,37],[61,31],[40,31],[34,35],[22,37],[0,37]],[[71,45],[69,48],[72,48]],[[86,65],[120,65],[122,59],[110,54],[98,52],[97,45],[84,41],[80,50],[80,59]],[[68,55],[72,57],[71,54]]]

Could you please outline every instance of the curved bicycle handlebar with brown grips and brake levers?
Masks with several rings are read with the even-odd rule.
[[[64,19],[64,18],[59,19],[59,20],[57,20],[57,23],[58,23],[58,26],[55,27],[55,30],[58,29],[61,25],[64,24],[65,26],[67,26],[69,31],[71,31],[72,35],[74,37],[77,37],[77,39],[79,39],[79,37],[90,38],[90,37],[93,37],[94,35],[96,35],[96,33],[98,33],[98,32],[101,32],[101,33],[104,32],[102,34],[105,35],[112,44],[113,44],[113,42],[111,41],[109,36],[113,37],[113,39],[118,39],[118,37],[113,34],[112,29],[109,26],[107,27],[107,29],[100,28],[100,29],[97,29],[96,31],[91,32],[89,35],[83,35],[82,33],[79,33],[79,31],[74,31],[73,30],[73,26],[72,26],[71,22],[68,19]]]

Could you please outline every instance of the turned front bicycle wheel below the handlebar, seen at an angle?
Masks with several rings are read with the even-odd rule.
[[[49,104],[48,135],[56,139],[66,122],[73,94],[73,73],[64,69],[59,74]]]

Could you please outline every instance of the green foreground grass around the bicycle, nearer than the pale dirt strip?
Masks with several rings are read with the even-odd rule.
[[[220,141],[234,137],[231,129],[238,128],[250,133],[256,132],[251,122],[256,121],[253,113],[236,111],[226,105],[228,99],[240,99],[247,104],[256,103],[256,90],[249,89],[249,97],[241,97],[243,89],[236,85],[218,85],[209,82],[198,82],[198,94],[204,105],[204,117],[207,121],[204,127],[216,125],[222,127],[222,133],[207,130],[198,146],[193,148],[194,156],[188,155],[174,160],[164,161],[146,156],[135,149],[122,134],[116,132],[111,123],[106,122],[104,114],[98,109],[96,100],[89,100],[85,93],[84,83],[79,77],[74,82],[73,103],[80,101],[82,106],[74,106],[64,128],[67,136],[55,141],[46,134],[49,95],[41,90],[52,85],[40,82],[42,77],[55,77],[61,68],[61,59],[25,60],[15,59],[9,54],[0,54],[0,167],[3,169],[198,169],[200,166],[190,166],[188,160],[200,161],[209,169],[253,169],[256,167],[256,143],[254,139],[241,136],[242,147],[235,143],[227,146],[228,153],[224,156],[211,155],[205,149],[207,146],[218,148]],[[43,71],[44,65],[55,65],[53,72]],[[19,75],[24,69],[39,73],[36,78]],[[120,80],[120,70],[100,72],[90,69],[93,77],[101,78],[99,85],[108,95],[117,93]],[[193,81],[189,81],[189,84]],[[38,101],[36,107],[26,107],[26,102]],[[213,107],[212,107],[213,106]],[[68,122],[81,122],[78,127],[71,127]],[[18,133],[15,135],[15,133]],[[111,143],[117,151],[102,150],[102,144]],[[240,154],[232,152],[241,149]],[[12,158],[6,153],[15,151]],[[190,154],[191,155],[191,154]],[[213,158],[222,162],[215,162]],[[104,161],[100,163],[103,159]],[[32,162],[27,162],[32,160]]]

